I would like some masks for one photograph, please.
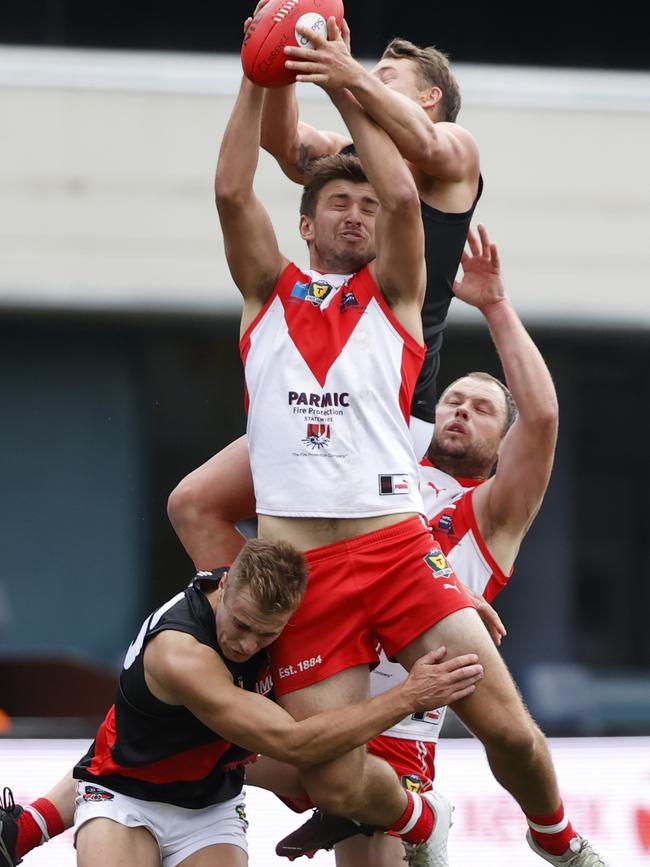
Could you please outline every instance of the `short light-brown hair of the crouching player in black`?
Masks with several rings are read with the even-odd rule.
[[[265,614],[294,611],[307,586],[305,558],[288,542],[249,539],[228,574],[228,587],[246,588]]]

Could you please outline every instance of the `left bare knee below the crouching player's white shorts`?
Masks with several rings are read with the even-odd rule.
[[[160,849],[146,828],[127,828],[112,819],[91,819],[75,841],[77,867],[160,867]]]

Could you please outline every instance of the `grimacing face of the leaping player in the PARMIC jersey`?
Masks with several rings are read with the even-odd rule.
[[[378,208],[370,184],[328,181],[318,194],[314,216],[300,217],[300,234],[309,244],[313,267],[351,274],[371,262]]]

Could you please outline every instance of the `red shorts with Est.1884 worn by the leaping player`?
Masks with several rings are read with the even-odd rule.
[[[270,646],[276,696],[391,657],[473,607],[420,518],[307,551],[307,591]]]

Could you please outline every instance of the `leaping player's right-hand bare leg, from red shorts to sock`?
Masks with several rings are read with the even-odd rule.
[[[552,813],[559,807],[560,793],[546,740],[476,611],[464,608],[450,614],[397,658],[410,669],[423,653],[443,644],[450,656],[477,653],[483,665],[483,680],[453,709],[483,743],[495,778],[527,815]]]

